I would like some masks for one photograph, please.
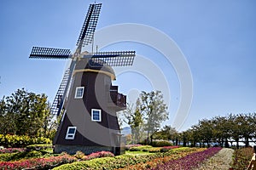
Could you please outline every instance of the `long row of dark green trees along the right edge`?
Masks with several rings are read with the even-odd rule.
[[[192,146],[210,146],[211,143],[218,143],[220,146],[229,147],[229,144],[243,142],[246,146],[250,141],[256,140],[256,113],[238,114],[229,116],[215,116],[210,120],[204,119],[198,124],[192,126],[186,133],[180,133],[183,136],[183,142]],[[184,137],[185,135],[185,137]]]

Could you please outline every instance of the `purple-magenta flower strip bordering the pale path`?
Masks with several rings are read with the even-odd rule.
[[[152,168],[153,170],[162,169],[162,170],[169,170],[169,169],[191,169],[192,167],[198,166],[202,161],[206,160],[207,158],[215,155],[221,148],[209,148],[207,150],[203,150],[200,152],[195,152],[193,154],[189,154],[188,156],[184,156],[182,158],[167,161],[164,164],[159,164],[158,166]]]

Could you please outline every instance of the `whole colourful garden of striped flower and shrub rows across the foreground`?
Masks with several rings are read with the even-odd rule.
[[[232,149],[220,147],[207,149],[133,144],[126,147],[126,150],[129,151],[122,156],[113,156],[108,151],[96,152],[88,156],[78,151],[76,155],[70,156],[66,153],[52,154],[52,150],[45,149],[45,147],[38,150],[38,145],[27,148],[31,150],[22,148],[0,150],[0,169],[199,170],[209,169],[212,166],[214,167],[212,169],[221,169],[222,167],[244,169],[252,157],[252,148],[242,148],[234,152]],[[47,150],[51,151],[44,154]],[[230,161],[220,161],[222,158]],[[3,161],[5,159],[9,161]]]

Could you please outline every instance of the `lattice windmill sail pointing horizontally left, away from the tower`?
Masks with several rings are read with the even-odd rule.
[[[70,49],[33,47],[29,58],[32,59],[68,59],[72,56]]]

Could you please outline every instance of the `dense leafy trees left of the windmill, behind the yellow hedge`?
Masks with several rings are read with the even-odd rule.
[[[0,100],[0,133],[49,137],[53,117],[45,94],[24,88]]]

